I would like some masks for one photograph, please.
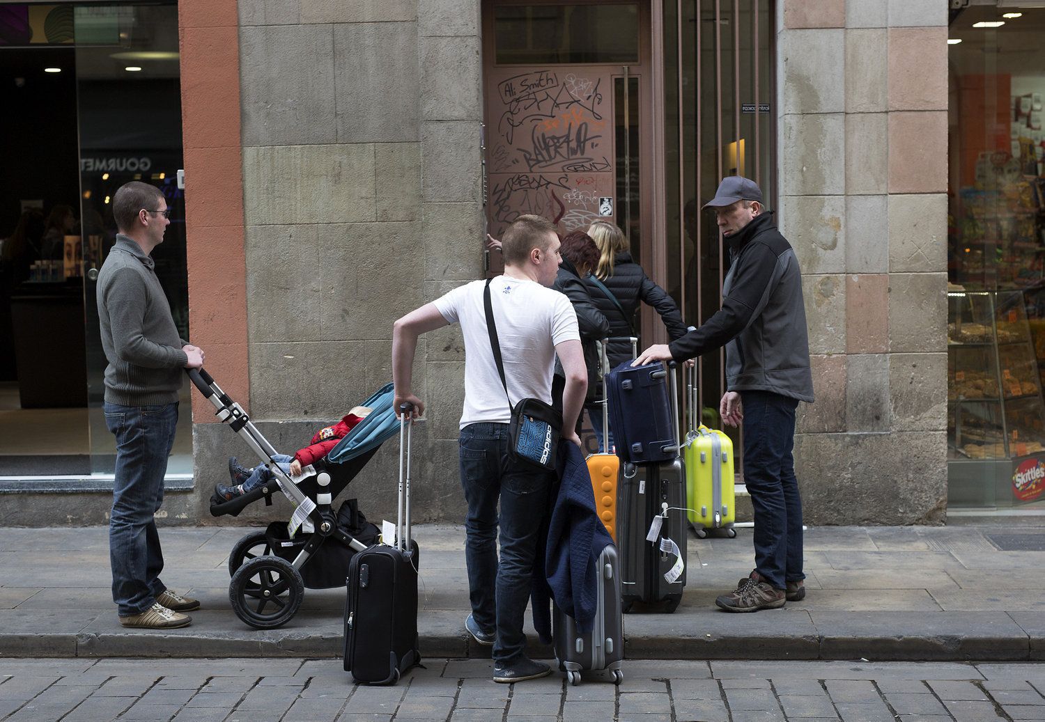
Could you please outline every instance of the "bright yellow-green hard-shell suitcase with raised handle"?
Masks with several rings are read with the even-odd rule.
[[[690,430],[686,436],[687,516],[698,537],[707,530],[722,529],[727,536],[737,532],[736,478],[733,440],[722,432],[696,426],[696,394],[690,381]]]

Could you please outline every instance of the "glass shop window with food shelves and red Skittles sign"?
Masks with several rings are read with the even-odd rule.
[[[1045,8],[952,11],[951,507],[1045,491]]]

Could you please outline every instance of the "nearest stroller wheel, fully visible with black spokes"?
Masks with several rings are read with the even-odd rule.
[[[275,629],[301,606],[305,583],[294,565],[279,557],[248,560],[232,575],[229,601],[236,616],[257,629]]]

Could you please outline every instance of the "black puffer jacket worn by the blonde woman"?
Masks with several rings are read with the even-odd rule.
[[[640,303],[645,303],[656,309],[664,325],[667,326],[668,335],[672,341],[686,335],[686,324],[682,323],[682,315],[678,311],[678,306],[664,288],[647,278],[643,266],[631,260],[630,253],[617,254],[617,258],[613,260],[613,275],[602,283],[617,297],[624,309],[623,313],[621,308],[618,308],[617,304],[603,293],[598,283],[593,282],[590,278],[584,280],[584,285],[587,286],[595,305],[609,320],[609,334],[611,336],[634,335],[632,329],[636,327],[635,311],[638,310]],[[609,368],[616,368],[631,357],[631,345],[628,342],[612,342],[609,345]]]

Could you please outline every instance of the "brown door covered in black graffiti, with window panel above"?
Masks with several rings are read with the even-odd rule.
[[[638,255],[649,236],[648,3],[483,5],[486,209],[494,237],[519,215],[561,233],[598,218]],[[490,258],[491,273],[502,267]]]

